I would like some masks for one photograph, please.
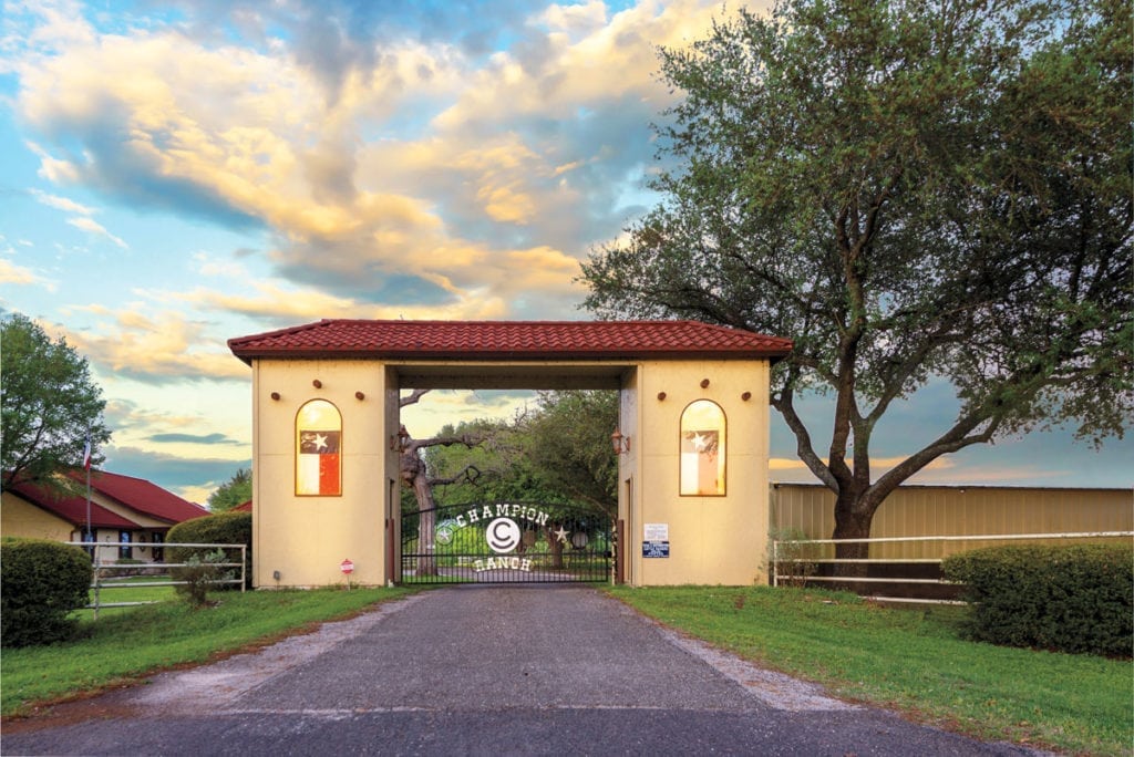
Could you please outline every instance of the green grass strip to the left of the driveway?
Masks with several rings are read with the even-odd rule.
[[[124,589],[125,590],[125,589]],[[223,592],[194,610],[171,601],[122,607],[79,620],[81,638],[46,647],[3,649],[0,715],[33,714],[39,705],[100,691],[160,670],[203,663],[315,623],[340,620],[407,588]]]

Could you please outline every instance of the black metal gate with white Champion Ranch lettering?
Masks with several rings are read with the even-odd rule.
[[[401,514],[405,584],[604,582],[610,516],[573,504],[471,502]]]

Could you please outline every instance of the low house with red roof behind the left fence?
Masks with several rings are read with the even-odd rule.
[[[100,550],[102,560],[160,562],[164,556],[161,545],[171,527],[209,514],[205,508],[152,482],[109,470],[91,471],[87,508],[85,471],[65,475],[76,485],[73,491],[82,493],[60,493],[33,483],[5,490],[0,535],[81,542],[90,526],[91,541],[115,544]]]

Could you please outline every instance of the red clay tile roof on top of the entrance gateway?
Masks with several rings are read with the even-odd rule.
[[[792,341],[696,321],[323,320],[228,340],[238,358],[770,359]]]

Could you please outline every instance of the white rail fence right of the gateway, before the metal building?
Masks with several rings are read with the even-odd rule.
[[[1007,542],[1007,541],[1039,541],[1039,539],[1082,539],[1082,538],[1123,538],[1134,537],[1134,531],[1082,531],[1066,534],[981,534],[965,536],[883,536],[878,538],[847,538],[847,539],[773,539],[772,541],[772,586],[805,585],[812,581],[832,584],[908,584],[908,585],[933,585],[955,586],[945,578],[900,578],[900,577],[855,577],[855,576],[814,576],[810,569],[819,564],[937,564],[940,565],[943,558],[822,558],[815,555],[803,555],[803,552],[815,545],[827,544],[894,544],[900,542]],[[788,565],[788,570],[781,569]],[[886,602],[912,602],[930,604],[964,604],[955,599],[933,599],[919,597],[887,597],[872,596],[871,599]]]

